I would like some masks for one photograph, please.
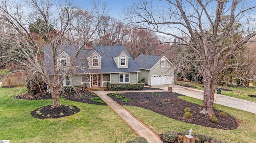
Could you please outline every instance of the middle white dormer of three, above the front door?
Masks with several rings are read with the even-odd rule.
[[[94,52],[87,59],[90,69],[101,69],[101,57],[97,52]]]

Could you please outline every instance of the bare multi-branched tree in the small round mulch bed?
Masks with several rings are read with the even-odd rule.
[[[63,80],[74,69],[78,53],[88,43],[99,27],[105,13],[105,6],[94,3],[90,10],[84,10],[72,2],[64,3],[52,0],[28,0],[17,3],[12,0],[0,2],[0,21],[2,24],[14,29],[14,32],[0,36],[11,45],[8,52],[0,57],[8,58],[13,62],[23,65],[31,73],[38,73],[51,90],[52,108],[60,107],[59,90]],[[40,30],[48,42],[49,51],[44,51],[42,41],[38,35],[30,33],[28,26],[40,18],[42,26],[34,26]],[[53,31],[54,28],[54,31]],[[39,38],[42,39],[42,38]],[[76,44],[70,64],[65,69],[58,67],[58,56],[63,51],[65,44]],[[46,66],[44,59],[48,59],[50,67]],[[49,65],[49,64],[48,64]],[[21,69],[21,70],[24,70]],[[49,75],[51,71],[52,78]]]

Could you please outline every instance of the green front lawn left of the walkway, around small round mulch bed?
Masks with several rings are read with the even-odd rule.
[[[72,116],[37,119],[32,110],[51,105],[52,100],[13,99],[23,88],[0,88],[0,139],[12,143],[125,143],[138,136],[108,106],[60,99],[61,104],[80,108]]]

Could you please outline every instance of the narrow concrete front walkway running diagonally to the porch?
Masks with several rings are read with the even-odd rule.
[[[124,121],[126,121],[126,123],[130,125],[130,127],[134,129],[136,133],[138,133],[138,135],[145,137],[148,140],[148,143],[162,143],[160,138],[153,131],[151,131],[148,127],[146,127],[146,125],[144,125],[137,118],[132,116],[130,112],[128,112],[122,106],[120,106],[118,103],[112,100],[112,98],[106,95],[108,93],[113,93],[113,91],[107,92],[107,91],[101,90],[101,91],[94,91],[94,93],[96,93],[106,104],[108,104],[108,106],[112,108],[112,110],[114,110],[114,112],[116,112],[118,116],[120,116]]]

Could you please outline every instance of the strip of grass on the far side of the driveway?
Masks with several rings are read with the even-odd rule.
[[[196,87],[196,89],[204,90],[204,88],[200,87],[200,86],[204,86],[203,84],[193,83],[192,86]],[[256,95],[256,88],[239,87],[239,86],[238,87],[218,86],[218,87],[233,90],[233,91],[221,90],[222,95],[239,98],[239,99],[243,99],[251,102],[256,102],[256,98],[248,96],[248,95]],[[217,91],[215,90],[215,92]]]

